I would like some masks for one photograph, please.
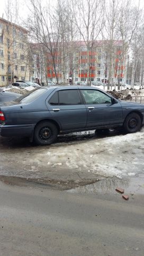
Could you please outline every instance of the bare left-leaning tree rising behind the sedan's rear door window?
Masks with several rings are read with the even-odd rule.
[[[40,43],[46,55],[52,59],[52,72],[59,82],[57,58],[59,47],[60,22],[58,14],[51,11],[50,5],[42,5],[39,0],[30,0],[30,16],[28,19],[32,41]]]

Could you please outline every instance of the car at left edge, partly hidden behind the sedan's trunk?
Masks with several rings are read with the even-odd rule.
[[[0,105],[4,102],[13,101],[16,98],[19,98],[21,94],[15,92],[8,92],[0,89]]]

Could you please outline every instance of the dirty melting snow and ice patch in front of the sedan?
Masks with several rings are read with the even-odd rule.
[[[144,129],[138,133],[95,138],[85,143],[53,145],[30,158],[31,165],[47,165],[57,171],[117,176],[131,176],[144,170]],[[72,145],[71,145],[72,144]],[[56,147],[58,145],[58,147]],[[42,159],[42,161],[41,161]]]

